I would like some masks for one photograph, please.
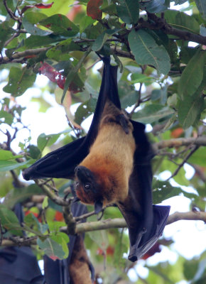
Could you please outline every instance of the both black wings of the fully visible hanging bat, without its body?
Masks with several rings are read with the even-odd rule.
[[[75,167],[87,156],[90,146],[97,137],[99,121],[104,105],[109,99],[121,109],[117,88],[117,66],[110,65],[110,58],[102,58],[104,70],[94,118],[87,136],[59,148],[24,170],[26,180],[33,178],[73,178]],[[145,126],[132,121],[136,141],[134,170],[129,178],[129,196],[118,204],[129,228],[129,260],[141,258],[155,244],[166,225],[169,206],[152,204],[151,158],[153,150],[145,133]]]

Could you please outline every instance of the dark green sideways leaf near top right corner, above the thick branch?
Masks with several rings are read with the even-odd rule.
[[[173,28],[189,31],[190,33],[200,33],[200,24],[193,16],[188,16],[188,14],[180,11],[168,10],[164,13],[164,17],[166,22]]]

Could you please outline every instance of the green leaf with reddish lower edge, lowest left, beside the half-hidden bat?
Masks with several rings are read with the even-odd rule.
[[[53,239],[47,238],[44,241],[41,241],[40,238],[38,238],[37,244],[47,256],[53,259],[53,261],[65,258],[63,247]]]

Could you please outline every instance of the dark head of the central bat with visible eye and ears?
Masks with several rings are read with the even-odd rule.
[[[82,165],[75,168],[75,176],[77,197],[82,203],[94,204],[95,212],[100,212],[103,206],[103,197],[97,177],[90,169]]]

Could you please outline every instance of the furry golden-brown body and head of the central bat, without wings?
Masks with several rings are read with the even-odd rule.
[[[77,197],[94,204],[96,213],[128,197],[136,149],[133,130],[126,113],[107,101],[90,153],[75,168]]]

